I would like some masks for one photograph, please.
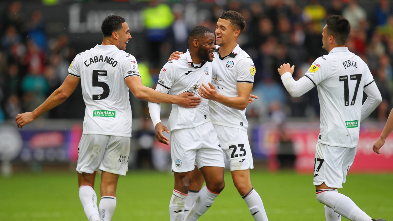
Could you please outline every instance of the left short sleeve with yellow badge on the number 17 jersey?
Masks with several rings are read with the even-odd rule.
[[[307,70],[305,76],[308,77],[314,86],[320,84],[321,82],[325,81],[329,77],[328,72],[329,65],[327,65],[326,58],[318,57]]]

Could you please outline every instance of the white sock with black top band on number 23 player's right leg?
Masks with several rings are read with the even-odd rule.
[[[246,201],[248,210],[256,221],[268,221],[262,199],[254,188],[251,188],[242,198]]]

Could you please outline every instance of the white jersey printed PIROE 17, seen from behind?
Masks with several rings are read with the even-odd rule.
[[[318,142],[356,147],[363,88],[374,79],[366,63],[348,48],[333,48],[317,58],[305,74],[318,88],[321,106]]]

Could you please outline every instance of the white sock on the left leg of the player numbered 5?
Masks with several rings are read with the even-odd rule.
[[[94,189],[88,185],[79,187],[79,199],[81,199],[84,214],[86,214],[88,220],[99,221],[97,195]]]

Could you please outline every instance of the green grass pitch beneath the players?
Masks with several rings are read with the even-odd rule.
[[[325,220],[323,204],[315,197],[312,174],[268,173],[253,169],[251,179],[270,221]],[[98,198],[99,180],[97,176]],[[253,220],[229,172],[225,174],[225,181],[224,191],[199,220]],[[393,221],[392,183],[393,174],[349,174],[347,184],[339,191],[371,217]],[[112,220],[169,220],[172,189],[171,173],[129,171],[119,179]],[[0,199],[1,221],[87,221],[79,201],[76,172],[17,173],[9,178],[0,177]]]

